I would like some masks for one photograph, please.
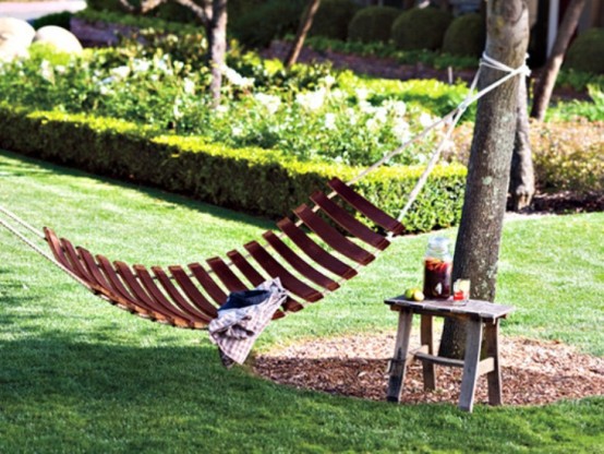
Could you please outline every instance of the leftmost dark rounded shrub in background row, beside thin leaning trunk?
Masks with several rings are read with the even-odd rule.
[[[348,24],[359,11],[352,0],[323,0],[313,20],[310,35],[346,40]]]

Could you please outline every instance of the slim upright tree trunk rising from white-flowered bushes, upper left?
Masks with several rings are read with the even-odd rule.
[[[209,94],[214,108],[220,105],[222,71],[227,53],[227,0],[213,0],[212,20],[209,21],[208,60],[212,67]]]

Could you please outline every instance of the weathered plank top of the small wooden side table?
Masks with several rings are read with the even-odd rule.
[[[431,300],[411,301],[399,296],[396,298],[389,298],[384,301],[386,304],[390,304],[392,309],[396,308],[410,308],[413,312],[438,312],[443,315],[457,314],[480,316],[481,319],[494,320],[505,318],[508,313],[516,310],[514,306],[495,304],[490,301],[482,301],[478,299],[471,299],[463,306],[454,306],[452,299],[445,300]]]

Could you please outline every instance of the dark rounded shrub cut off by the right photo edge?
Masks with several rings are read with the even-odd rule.
[[[566,52],[565,68],[604,74],[604,28],[590,28],[572,41]]]

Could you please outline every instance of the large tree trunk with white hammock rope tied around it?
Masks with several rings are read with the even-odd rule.
[[[490,0],[486,11],[486,53],[509,67],[524,62],[529,41],[527,0]],[[485,87],[500,71],[483,68]],[[454,256],[454,279],[471,279],[471,297],[493,301],[502,228],[509,187],[516,131],[519,77],[504,83],[479,100],[470,151],[466,196]],[[466,328],[447,320],[439,355],[461,358]]]

